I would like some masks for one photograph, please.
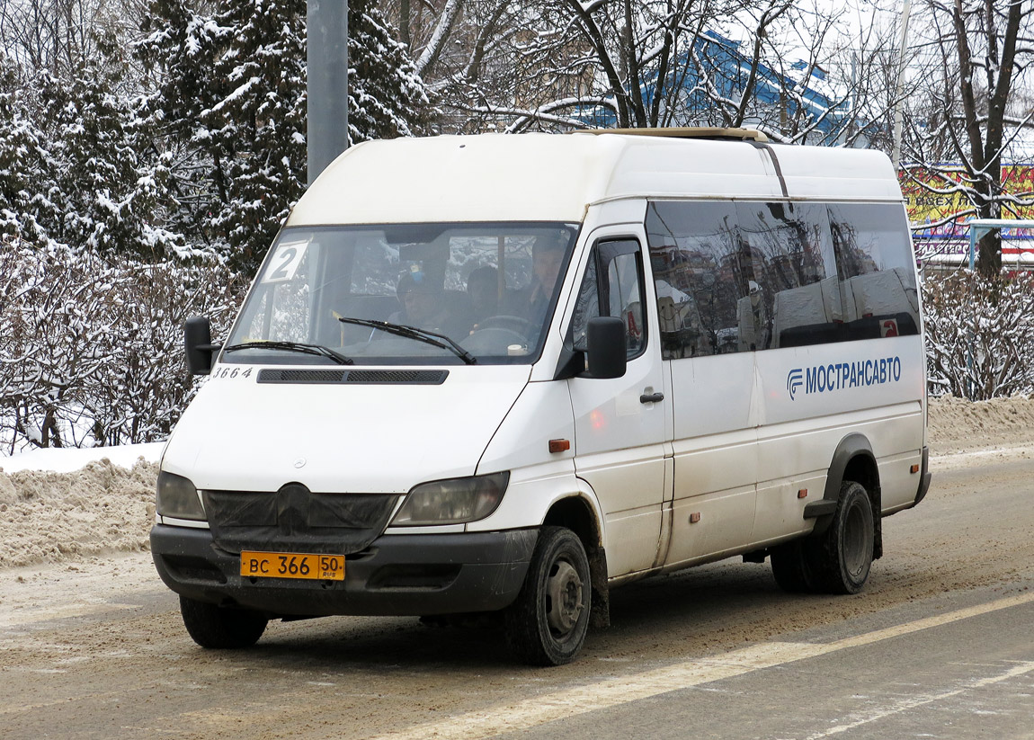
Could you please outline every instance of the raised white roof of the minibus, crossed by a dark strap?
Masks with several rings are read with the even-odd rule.
[[[287,225],[580,222],[588,206],[630,197],[902,202],[890,160],[876,151],[630,132],[488,133],[352,147]]]

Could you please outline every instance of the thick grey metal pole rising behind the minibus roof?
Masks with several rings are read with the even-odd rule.
[[[348,2],[307,0],[309,185],[348,146]]]

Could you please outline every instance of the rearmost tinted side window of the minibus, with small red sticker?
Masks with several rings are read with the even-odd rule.
[[[919,332],[919,298],[901,206],[828,207],[847,339]]]

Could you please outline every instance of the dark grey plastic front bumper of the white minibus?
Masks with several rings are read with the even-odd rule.
[[[538,529],[385,534],[345,558],[343,581],[250,578],[207,529],[156,524],[151,555],[165,585],[200,602],[271,617],[488,612],[517,597]]]

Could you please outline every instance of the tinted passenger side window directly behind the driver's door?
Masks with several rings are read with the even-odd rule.
[[[750,349],[739,313],[754,281],[732,203],[651,203],[646,238],[665,360]]]

